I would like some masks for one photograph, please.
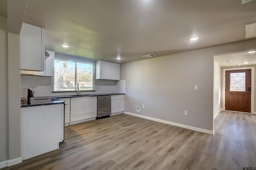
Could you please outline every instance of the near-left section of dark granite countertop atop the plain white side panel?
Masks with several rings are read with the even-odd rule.
[[[53,98],[53,99],[38,99],[31,100],[31,104],[24,104],[21,102],[20,107],[31,107],[31,106],[44,106],[44,105],[53,105],[53,104],[65,104],[64,101]]]

